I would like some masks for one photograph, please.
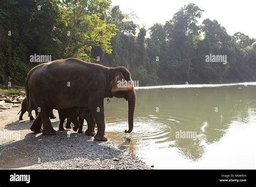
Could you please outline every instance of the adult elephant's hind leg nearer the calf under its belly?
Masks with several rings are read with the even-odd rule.
[[[44,135],[52,135],[56,134],[56,131],[52,128],[50,121],[50,111],[47,109],[41,109],[41,118],[43,121],[43,134]]]

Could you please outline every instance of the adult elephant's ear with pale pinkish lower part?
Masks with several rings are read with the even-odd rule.
[[[118,71],[114,75],[114,79],[110,82],[111,92],[129,91],[133,89],[130,81],[125,80],[122,72]]]

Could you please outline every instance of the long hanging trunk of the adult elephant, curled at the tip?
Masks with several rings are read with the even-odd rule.
[[[128,123],[129,123],[129,130],[125,133],[131,133],[133,129],[133,116],[134,116],[134,109],[136,104],[136,94],[134,90],[129,91],[128,95]]]

